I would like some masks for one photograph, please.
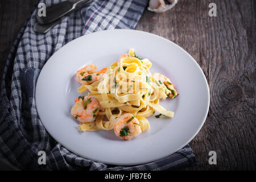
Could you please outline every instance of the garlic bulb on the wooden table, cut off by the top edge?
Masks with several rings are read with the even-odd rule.
[[[155,13],[162,13],[164,11],[172,9],[177,3],[177,0],[150,0],[149,7],[147,8],[150,11]]]

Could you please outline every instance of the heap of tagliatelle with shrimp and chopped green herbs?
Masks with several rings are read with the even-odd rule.
[[[174,112],[160,106],[159,100],[175,98],[178,95],[176,89],[168,78],[159,73],[151,74],[151,66],[150,60],[140,59],[134,49],[130,49],[128,54],[100,72],[96,72],[97,67],[92,64],[80,69],[77,77],[82,85],[78,91],[88,90],[89,94],[86,98],[77,98],[76,105],[80,104],[80,107],[75,105],[71,111],[73,117],[80,121],[79,131],[115,130],[118,128],[116,123],[122,118],[127,123],[123,122],[124,125],[118,128],[118,137],[130,139],[127,137],[134,129],[140,133],[150,129],[146,118],[155,111],[160,113],[156,117],[174,117]],[[134,128],[126,127],[129,122]]]

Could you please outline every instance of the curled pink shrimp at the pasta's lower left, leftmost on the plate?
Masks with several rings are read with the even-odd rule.
[[[75,100],[75,105],[71,109],[71,115],[80,123],[90,123],[95,121],[100,110],[100,104],[96,98],[91,96],[79,96]]]

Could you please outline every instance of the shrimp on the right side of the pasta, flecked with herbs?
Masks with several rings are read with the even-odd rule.
[[[178,95],[174,84],[172,84],[172,82],[169,78],[165,77],[164,75],[162,75],[160,73],[152,73],[152,77],[154,77],[155,81],[159,82],[160,84],[164,84],[166,86],[167,96],[169,96],[171,98],[175,98]]]

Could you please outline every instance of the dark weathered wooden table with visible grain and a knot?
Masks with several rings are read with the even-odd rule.
[[[211,2],[216,17],[208,15]],[[0,76],[33,5],[32,0],[0,2]],[[207,77],[209,114],[190,143],[199,164],[184,170],[255,169],[255,1],[179,0],[166,13],[145,10],[136,29],[183,47]],[[217,152],[217,165],[208,163],[209,151]]]

